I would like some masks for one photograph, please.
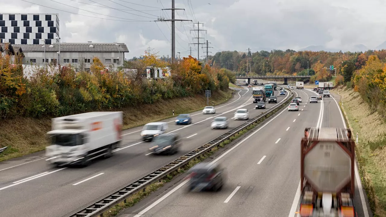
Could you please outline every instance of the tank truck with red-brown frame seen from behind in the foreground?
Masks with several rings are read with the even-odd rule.
[[[301,217],[354,217],[355,142],[350,129],[306,128],[301,139]]]

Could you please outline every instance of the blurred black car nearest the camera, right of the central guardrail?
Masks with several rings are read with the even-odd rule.
[[[224,170],[217,163],[201,162],[189,170],[186,179],[190,192],[218,191],[224,184]]]

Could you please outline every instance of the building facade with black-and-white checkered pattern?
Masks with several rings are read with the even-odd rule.
[[[56,37],[58,14],[0,14],[0,42],[53,44],[59,42]]]

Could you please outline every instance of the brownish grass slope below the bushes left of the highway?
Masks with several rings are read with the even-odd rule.
[[[212,92],[215,105],[225,102],[232,97],[232,91]],[[190,113],[200,110],[207,105],[205,95],[195,97],[174,98],[154,104],[141,105],[138,108],[122,108],[124,112],[124,129],[140,126],[152,121],[173,117],[174,114]],[[42,151],[47,145],[46,132],[51,129],[51,119],[32,119],[17,117],[0,121],[0,147],[8,148],[0,154],[0,162],[26,154]]]

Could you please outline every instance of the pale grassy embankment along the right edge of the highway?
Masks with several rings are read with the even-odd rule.
[[[362,185],[374,216],[386,216],[386,122],[362,100],[359,93],[340,86],[340,107],[355,135],[358,133],[356,156]]]

